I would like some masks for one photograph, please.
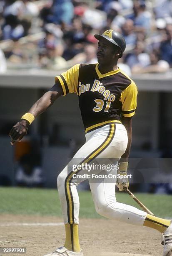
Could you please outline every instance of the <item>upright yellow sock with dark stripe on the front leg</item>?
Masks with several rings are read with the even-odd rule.
[[[66,241],[65,247],[70,251],[80,252],[78,236],[78,224],[65,224]]]

